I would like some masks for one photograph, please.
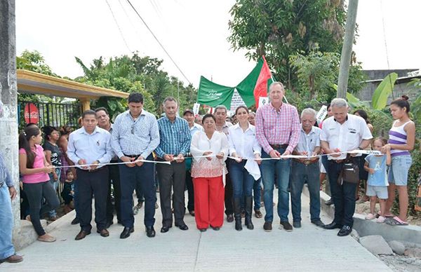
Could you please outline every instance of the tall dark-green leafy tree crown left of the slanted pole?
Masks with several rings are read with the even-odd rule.
[[[343,0],[236,0],[229,21],[228,41],[234,50],[246,49],[250,59],[265,55],[276,79],[294,78],[290,55],[340,53],[345,26]]]

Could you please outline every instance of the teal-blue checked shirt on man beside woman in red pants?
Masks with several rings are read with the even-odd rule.
[[[165,154],[185,156],[192,142],[189,123],[180,117],[175,117],[175,121],[171,122],[167,116],[163,116],[158,120],[158,127],[161,142],[155,149],[156,156],[160,158]]]

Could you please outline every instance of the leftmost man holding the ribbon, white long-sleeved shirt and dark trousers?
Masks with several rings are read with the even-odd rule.
[[[95,111],[83,111],[83,127],[70,133],[67,145],[69,159],[75,165],[82,165],[76,168],[81,231],[75,240],[81,240],[91,233],[92,196],[95,196],[97,232],[102,237],[109,236],[106,229],[109,172],[107,165],[98,164],[111,161],[111,135],[97,124]]]

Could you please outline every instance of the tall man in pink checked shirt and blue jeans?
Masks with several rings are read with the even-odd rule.
[[[275,182],[279,188],[278,215],[281,226],[286,231],[293,230],[288,222],[290,158],[276,158],[292,154],[300,137],[300,118],[294,106],[282,102],[284,92],[282,83],[272,83],[269,86],[270,103],[259,107],[255,118],[256,137],[263,149],[262,158],[274,158],[262,161],[261,164],[266,210],[263,225],[265,231],[272,231]]]

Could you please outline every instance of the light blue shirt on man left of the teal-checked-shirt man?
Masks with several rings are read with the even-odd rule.
[[[124,111],[116,117],[112,127],[111,145],[119,158],[126,154],[140,155],[146,159],[158,144],[158,123],[153,114],[142,109],[136,120],[130,111]]]

